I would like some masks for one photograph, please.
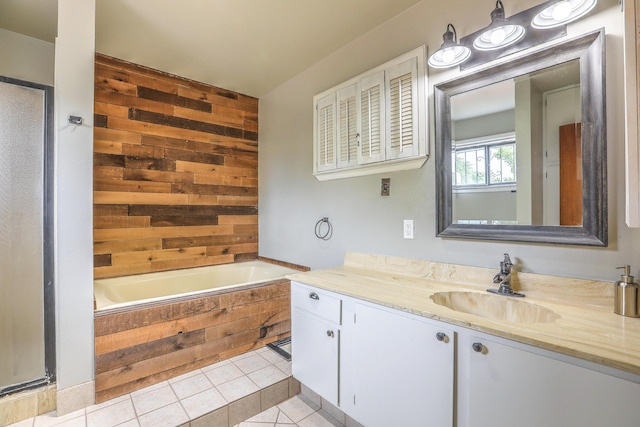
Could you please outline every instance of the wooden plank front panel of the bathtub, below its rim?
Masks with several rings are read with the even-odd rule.
[[[95,317],[104,402],[290,335],[290,282]]]

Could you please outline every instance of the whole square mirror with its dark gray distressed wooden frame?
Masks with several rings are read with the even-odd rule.
[[[435,86],[438,236],[607,245],[603,39]]]

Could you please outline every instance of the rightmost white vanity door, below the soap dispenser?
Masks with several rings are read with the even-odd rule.
[[[458,343],[460,426],[640,425],[640,384],[486,337]]]

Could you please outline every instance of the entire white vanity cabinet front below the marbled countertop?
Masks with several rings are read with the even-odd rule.
[[[640,425],[638,376],[291,286],[294,377],[367,427]]]

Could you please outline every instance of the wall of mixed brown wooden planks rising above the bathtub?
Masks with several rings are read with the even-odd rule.
[[[96,55],[94,272],[256,259],[258,100]]]

